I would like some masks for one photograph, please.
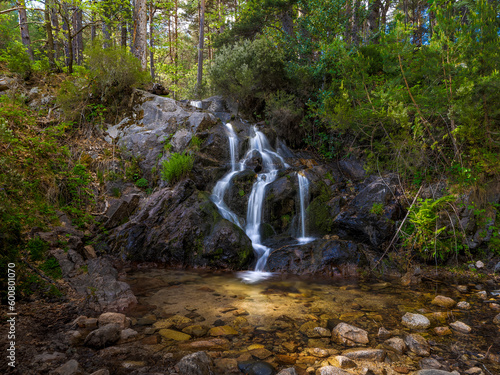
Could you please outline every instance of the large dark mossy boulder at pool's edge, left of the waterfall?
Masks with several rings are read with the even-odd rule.
[[[192,180],[153,193],[110,233],[109,246],[133,260],[180,266],[242,269],[253,257],[250,239]]]

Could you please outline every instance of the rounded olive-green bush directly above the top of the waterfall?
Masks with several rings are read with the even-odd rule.
[[[209,69],[217,93],[231,97],[247,113],[263,109],[267,94],[283,87],[282,52],[261,37],[223,47]]]

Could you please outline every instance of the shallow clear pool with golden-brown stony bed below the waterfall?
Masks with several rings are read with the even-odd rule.
[[[293,276],[276,276],[257,284],[245,284],[232,273],[168,269],[136,270],[128,273],[126,281],[139,301],[135,310],[127,315],[141,324],[151,324],[152,329],[145,334],[159,335],[160,329],[155,329],[155,324],[160,327],[158,323],[166,321],[170,321],[170,330],[189,333],[189,338],[184,336],[181,340],[159,335],[161,350],[179,358],[194,351],[197,346],[193,343],[217,337],[225,340],[224,345],[203,348],[216,353],[214,357],[219,360],[231,359],[237,363],[244,359],[261,359],[277,369],[293,366],[307,372],[325,365],[329,357],[348,349],[332,341],[331,337],[312,333],[311,327],[331,331],[344,322],[368,332],[369,344],[363,348],[385,350],[385,361],[376,366],[385,368],[387,373],[411,373],[439,366],[460,373],[477,367],[485,374],[500,374],[499,330],[493,323],[499,311],[492,308],[495,307],[492,300],[484,299],[484,292],[487,299],[496,298],[494,290],[498,288],[494,284],[424,281],[403,287],[400,279],[304,280]],[[431,301],[436,295],[450,297],[456,302],[467,301],[470,308],[435,306]],[[430,345],[430,356],[417,355],[408,348],[397,352],[384,343],[388,337],[404,338],[415,333],[402,324],[402,317],[407,312],[423,314],[430,319],[431,326],[417,332]],[[149,321],[144,320],[145,317]],[[470,326],[471,332],[465,334],[450,329],[448,334],[442,335],[435,330],[436,327],[450,328],[449,324],[455,321]],[[201,329],[193,330],[193,326]],[[230,329],[224,334],[216,333],[217,330],[212,330],[214,327]],[[382,327],[390,333],[381,335]],[[311,355],[315,348],[324,349],[327,354]],[[260,352],[255,352],[256,349]],[[287,361],[289,363],[285,363]],[[225,361],[221,366],[229,366],[228,363]],[[230,373],[227,368],[219,370]],[[350,371],[357,373],[356,369]]]

